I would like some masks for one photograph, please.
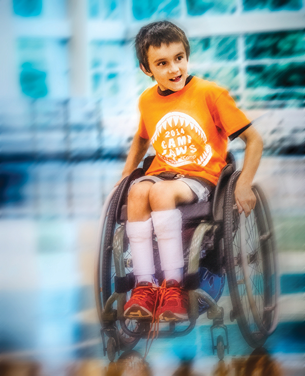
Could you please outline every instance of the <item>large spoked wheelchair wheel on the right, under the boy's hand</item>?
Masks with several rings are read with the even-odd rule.
[[[266,199],[253,186],[255,209],[239,215],[234,190],[240,172],[229,179],[224,202],[224,249],[226,273],[240,332],[256,348],[276,329],[279,309],[277,254]]]

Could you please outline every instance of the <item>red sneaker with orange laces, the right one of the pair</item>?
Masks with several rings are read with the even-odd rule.
[[[188,291],[181,288],[180,284],[171,279],[166,281],[166,286],[160,291],[159,319],[165,321],[188,320]]]

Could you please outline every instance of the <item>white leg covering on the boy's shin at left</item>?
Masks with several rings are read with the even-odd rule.
[[[126,232],[129,237],[133,273],[137,276],[138,282],[142,280],[150,282],[155,274],[151,218],[145,222],[127,221]]]

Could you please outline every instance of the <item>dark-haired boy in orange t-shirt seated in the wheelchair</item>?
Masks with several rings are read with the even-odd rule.
[[[262,140],[225,89],[188,74],[190,46],[176,25],[160,21],[144,26],[135,46],[140,69],[157,85],[140,96],[139,129],[122,179],[137,168],[150,141],[156,157],[146,176],[132,183],[128,196],[126,228],[137,284],[125,317],[184,320],[188,295],[180,285],[184,257],[176,206],[208,201],[226,165],[227,138],[238,136],[246,150],[235,199],[239,213],[248,216],[256,202],[251,185]],[[154,279],[153,226],[166,281],[162,299]]]

